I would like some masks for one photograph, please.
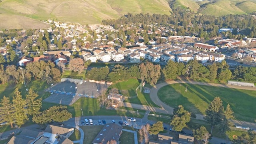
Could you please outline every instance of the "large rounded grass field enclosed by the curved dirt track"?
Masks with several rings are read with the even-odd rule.
[[[188,86],[188,91],[184,90]],[[158,97],[169,106],[184,106],[186,110],[197,114],[205,114],[208,104],[219,96],[224,107],[230,104],[237,120],[254,122],[256,113],[256,91],[202,86],[194,84],[171,84],[160,88]]]

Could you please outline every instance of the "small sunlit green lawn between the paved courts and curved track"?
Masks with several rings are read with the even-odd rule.
[[[124,96],[136,96],[136,88],[140,85],[136,78],[130,78],[124,82],[112,84],[110,88],[117,88],[119,93]]]

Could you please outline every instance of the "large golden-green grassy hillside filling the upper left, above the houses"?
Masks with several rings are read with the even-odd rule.
[[[2,0],[0,28],[44,27],[45,24],[39,24],[40,20],[48,18],[95,24],[128,12],[170,14],[170,11],[166,0]],[[18,19],[24,24],[19,24]]]

